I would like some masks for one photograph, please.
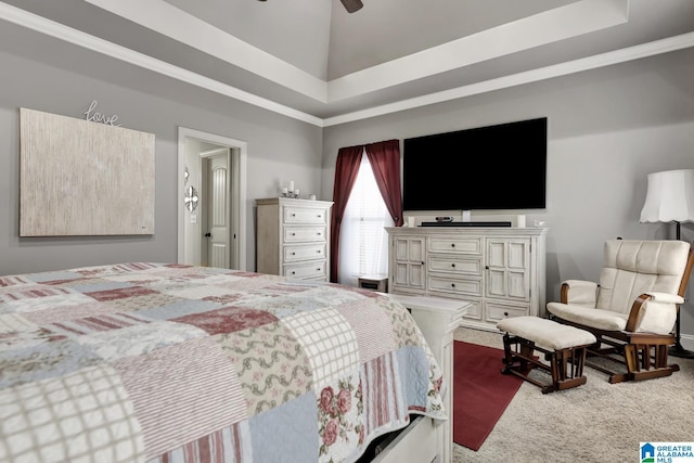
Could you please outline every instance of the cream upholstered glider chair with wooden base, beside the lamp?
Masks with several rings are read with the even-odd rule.
[[[693,256],[679,240],[609,240],[600,284],[563,282],[561,301],[547,305],[549,318],[595,335],[586,364],[609,383],[669,376],[679,370],[668,364],[668,348]],[[607,360],[597,364],[597,357]]]

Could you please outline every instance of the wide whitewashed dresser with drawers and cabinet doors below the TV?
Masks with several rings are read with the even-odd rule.
[[[547,229],[386,230],[390,293],[467,300],[461,324],[489,331],[504,318],[544,314]]]

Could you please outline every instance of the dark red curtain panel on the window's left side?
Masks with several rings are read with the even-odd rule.
[[[339,262],[339,226],[347,207],[347,200],[359,173],[359,164],[364,146],[340,147],[335,164],[335,185],[333,187],[333,215],[330,233],[330,281],[337,283],[337,263]]]

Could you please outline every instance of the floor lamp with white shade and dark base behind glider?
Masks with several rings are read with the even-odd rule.
[[[674,222],[680,240],[680,223],[694,221],[694,169],[666,170],[648,175],[648,191],[641,209],[641,222]],[[676,342],[669,353],[694,359],[694,352],[680,342],[680,310],[674,325]]]

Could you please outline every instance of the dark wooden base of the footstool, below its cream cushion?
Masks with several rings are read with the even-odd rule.
[[[587,346],[574,346],[558,350],[548,350],[535,345],[535,342],[519,336],[511,336],[509,333],[503,336],[504,364],[501,370],[503,374],[514,374],[528,383],[531,383],[542,390],[542,394],[550,394],[555,390],[570,389],[586,384],[583,376],[583,365],[586,363]],[[540,362],[534,356],[535,351],[544,353],[549,360],[549,365]],[[532,369],[540,369],[548,373],[551,382],[541,382],[529,377],[528,373]]]

